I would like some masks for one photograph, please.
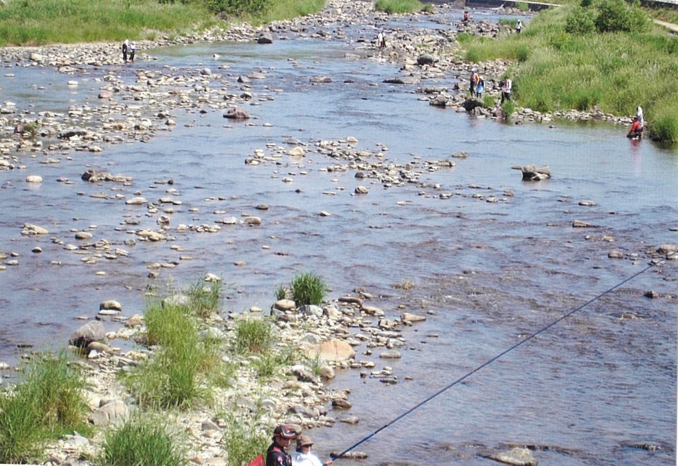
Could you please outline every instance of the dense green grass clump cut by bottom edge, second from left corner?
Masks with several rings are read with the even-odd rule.
[[[146,415],[147,416],[147,415]],[[106,432],[95,466],[187,466],[185,441],[159,417],[131,417]]]

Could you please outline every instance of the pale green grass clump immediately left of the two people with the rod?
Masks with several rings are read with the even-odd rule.
[[[270,434],[256,428],[257,419],[248,422],[230,414],[224,415],[224,418],[226,426],[222,442],[229,466],[247,464],[258,454],[266,452]]]

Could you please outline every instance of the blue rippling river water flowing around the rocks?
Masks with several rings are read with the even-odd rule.
[[[369,53],[350,40],[315,39],[148,51],[157,60],[134,66],[210,67],[223,74],[213,85],[233,92],[240,92],[238,75],[264,73],[250,83],[256,97],[246,108],[253,119],[234,123],[223,110],[196,106],[178,110],[177,126],[148,143],[64,154],[56,164],[25,154],[25,170],[0,172],[0,250],[19,255],[19,266],[0,272],[0,360],[13,362],[17,345],[65,344],[80,325],[76,316],[94,316],[106,299],[120,301],[126,316],[142,312],[144,290],[154,282],[146,278],[150,264],[174,266],[162,268],[156,281],[220,275],[228,283],[225,312],[266,309],[280,284],[314,271],[332,287],[331,298],[360,287],[389,318],[403,310],[428,317],[403,329],[400,360],[358,348],[357,359],[389,366],[397,384],[359,371],[338,373],[332,386],[350,389],[353,408],[332,416],[360,421],[310,432],[321,454],[370,436],[356,448],[369,454],[363,464],[490,465],[486,454],[512,443],[534,445],[541,465],[675,464],[677,261],[642,272],[390,424],[644,270],[647,251],[676,244],[678,150],[630,142],[624,128],[608,124],[502,124],[433,108],[418,100],[415,86],[383,83],[398,73],[395,67],[346,58],[348,51]],[[223,65],[229,69],[218,69]],[[67,76],[49,70],[3,71],[5,100],[36,110],[94,102],[100,86],[96,72],[73,89]],[[135,79],[133,67],[99,72]],[[314,75],[332,82],[310,84]],[[347,137],[394,164],[439,161],[459,151],[468,158],[425,172],[426,185],[384,186],[355,178],[354,170],[331,170],[338,162],[313,150],[317,141]],[[245,165],[254,150],[286,150],[290,139],[304,145],[306,156]],[[549,165],[552,179],[523,182],[512,167],[530,163]],[[133,182],[90,185],[80,181],[88,167]],[[45,182],[27,185],[27,174]],[[354,195],[357,185],[368,186],[369,194]],[[181,200],[169,214],[172,241],[125,244],[135,237],[130,231],[157,228],[157,215],[124,198],[157,200],[168,189]],[[107,198],[91,197],[101,193]],[[262,204],[268,210],[256,209]],[[246,214],[260,216],[262,226],[176,230]],[[596,227],[573,228],[574,220]],[[24,222],[45,226],[49,235],[21,236]],[[76,244],[78,230],[128,255],[83,264],[82,254],[49,239]],[[32,253],[35,246],[43,253]],[[625,258],[609,259],[612,249]],[[659,297],[645,297],[650,290]]]

